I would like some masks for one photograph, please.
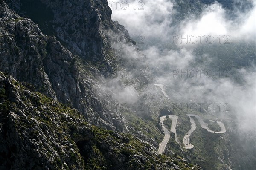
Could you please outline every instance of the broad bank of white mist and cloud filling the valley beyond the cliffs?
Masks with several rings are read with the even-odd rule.
[[[143,10],[109,4],[173,103],[204,104],[201,112],[210,104],[208,114],[232,121],[239,138],[253,135],[250,147],[240,144],[255,152],[255,1],[143,1]]]

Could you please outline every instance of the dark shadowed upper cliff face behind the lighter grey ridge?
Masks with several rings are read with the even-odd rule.
[[[134,43],[128,31],[111,20],[107,0],[10,0],[9,6],[22,17],[32,18],[47,35],[57,40],[75,55],[102,65],[102,72],[111,72],[119,65],[120,54],[113,55],[113,40],[125,37]],[[18,5],[17,5],[18,4]]]

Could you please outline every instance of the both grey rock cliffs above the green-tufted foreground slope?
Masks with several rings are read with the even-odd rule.
[[[6,36],[1,37],[4,42],[1,48],[8,50],[1,50],[0,70],[70,104],[83,112],[90,123],[124,132],[125,119],[115,109],[109,109],[115,108],[116,101],[104,77],[123,68],[128,72],[143,69],[147,75],[148,68],[143,63],[145,56],[134,45],[128,31],[111,20],[107,1],[6,2],[21,16],[31,17],[40,29],[1,2],[2,13],[6,15],[1,19],[4,21],[1,34]],[[55,35],[57,40],[44,35],[41,29],[47,35]],[[135,88],[141,88],[151,81],[149,77],[129,81]],[[147,115],[150,116],[150,111]]]

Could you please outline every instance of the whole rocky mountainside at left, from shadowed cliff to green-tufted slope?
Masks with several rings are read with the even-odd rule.
[[[119,133],[132,128],[105,77],[150,75],[143,58],[106,0],[0,0],[0,169],[200,169]]]

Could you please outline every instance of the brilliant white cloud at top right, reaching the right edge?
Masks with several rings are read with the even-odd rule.
[[[218,37],[222,38],[225,35],[230,37],[230,41],[233,40],[254,40],[256,36],[256,3],[252,1],[252,8],[243,13],[238,8],[230,13],[230,10],[220,9],[217,2],[214,4],[214,8],[204,9],[201,17],[196,20],[188,18],[185,24],[180,25],[180,34],[185,37],[186,35],[212,35],[215,38],[216,43],[219,43]],[[237,17],[233,17],[237,16]],[[231,19],[231,17],[233,17]],[[205,38],[204,37],[204,38]],[[198,43],[199,41],[198,37]],[[220,37],[219,37],[220,38]],[[205,39],[204,39],[205,40]],[[223,41],[222,41],[223,42]],[[204,41],[204,43],[206,43]],[[186,45],[185,43],[182,43]],[[192,45],[192,43],[188,43]]]

